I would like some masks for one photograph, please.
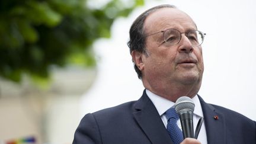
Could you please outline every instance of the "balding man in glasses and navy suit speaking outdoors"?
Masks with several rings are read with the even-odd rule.
[[[145,91],[137,101],[87,114],[75,132],[81,143],[256,143],[255,121],[210,105],[197,95],[203,76],[204,34],[172,5],[143,12],[130,28],[130,53]],[[194,126],[204,118],[198,139],[172,135],[168,111],[181,96],[192,98]],[[178,129],[180,130],[180,129]],[[177,130],[177,131],[178,131]],[[178,139],[176,141],[176,138]]]

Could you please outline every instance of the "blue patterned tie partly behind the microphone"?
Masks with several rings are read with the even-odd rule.
[[[169,110],[166,111],[166,117],[168,120],[167,130],[169,136],[172,139],[172,142],[174,144],[180,144],[183,141],[183,133],[177,125],[177,120],[179,119],[179,117],[174,107],[171,107],[169,108]]]

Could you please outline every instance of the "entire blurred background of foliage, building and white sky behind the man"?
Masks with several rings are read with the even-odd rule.
[[[254,0],[0,1],[0,144],[72,143],[84,114],[143,92],[126,43],[135,18],[160,4],[200,31],[208,103],[256,120]]]

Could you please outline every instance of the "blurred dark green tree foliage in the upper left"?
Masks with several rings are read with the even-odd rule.
[[[19,82],[24,73],[47,78],[52,65],[95,66],[92,43],[110,37],[113,21],[143,3],[111,0],[90,8],[86,0],[0,1],[0,76]]]

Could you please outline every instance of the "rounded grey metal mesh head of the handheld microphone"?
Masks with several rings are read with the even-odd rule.
[[[178,114],[180,114],[181,111],[183,110],[190,110],[190,111],[194,111],[194,102],[190,97],[180,97],[178,98],[178,100],[175,103],[175,110]]]

